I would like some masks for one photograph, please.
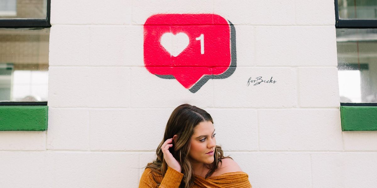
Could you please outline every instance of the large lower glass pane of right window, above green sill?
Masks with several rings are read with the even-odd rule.
[[[377,29],[336,29],[341,103],[377,102]]]

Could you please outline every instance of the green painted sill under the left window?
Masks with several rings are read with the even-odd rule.
[[[48,106],[0,106],[0,130],[47,130]]]

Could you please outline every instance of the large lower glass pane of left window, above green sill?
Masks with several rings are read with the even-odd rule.
[[[47,101],[49,32],[0,29],[0,102]]]

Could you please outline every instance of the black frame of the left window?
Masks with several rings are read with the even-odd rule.
[[[45,19],[0,19],[0,28],[50,28],[51,0],[47,0],[47,11]],[[47,101],[43,102],[0,102],[0,106],[47,106]]]

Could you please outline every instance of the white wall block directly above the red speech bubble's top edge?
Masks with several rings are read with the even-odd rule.
[[[144,24],[154,14],[212,14],[212,0],[132,0],[132,23]],[[225,18],[226,19],[226,18]]]

